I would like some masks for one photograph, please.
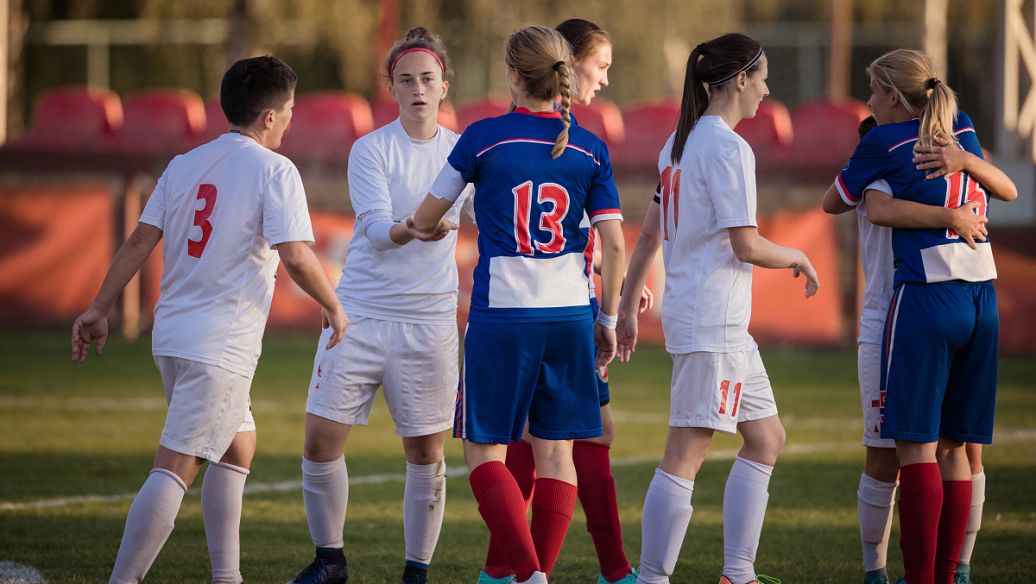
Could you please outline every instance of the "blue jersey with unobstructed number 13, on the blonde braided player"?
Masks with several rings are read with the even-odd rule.
[[[432,187],[442,199],[460,181],[476,187],[470,322],[589,318],[589,227],[622,213],[608,149],[596,136],[573,124],[565,152],[551,158],[562,127],[559,113],[523,108],[476,122]]]

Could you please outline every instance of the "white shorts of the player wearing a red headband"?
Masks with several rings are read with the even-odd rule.
[[[367,426],[384,386],[396,434],[427,436],[453,428],[457,399],[457,325],[351,317],[345,340],[325,348],[320,335],[306,412]]]

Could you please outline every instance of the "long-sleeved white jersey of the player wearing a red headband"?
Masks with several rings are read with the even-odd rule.
[[[376,223],[413,214],[457,143],[439,126],[435,138],[410,138],[399,119],[361,138],[349,154],[349,198],[356,213],[338,296],[348,315],[402,322],[457,318],[457,232],[379,251],[368,236]],[[462,195],[470,196],[470,187]],[[464,203],[447,218],[457,222]]]

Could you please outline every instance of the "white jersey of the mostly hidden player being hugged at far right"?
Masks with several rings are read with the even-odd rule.
[[[892,187],[884,179],[867,185],[892,196]],[[859,343],[882,342],[885,317],[892,299],[892,276],[895,266],[892,257],[892,230],[874,225],[867,220],[867,205],[861,201],[856,207],[856,222],[860,226],[860,260],[863,262],[863,305],[860,310]]]

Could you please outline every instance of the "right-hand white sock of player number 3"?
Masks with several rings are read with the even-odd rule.
[[[241,502],[249,469],[209,462],[201,481],[201,513],[214,584],[241,582]]]

